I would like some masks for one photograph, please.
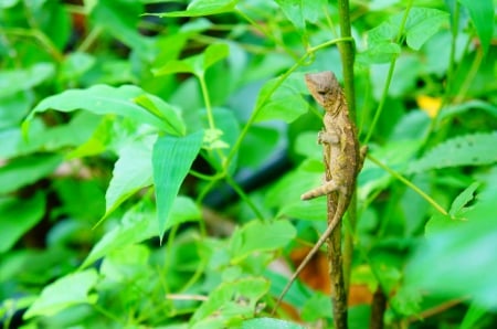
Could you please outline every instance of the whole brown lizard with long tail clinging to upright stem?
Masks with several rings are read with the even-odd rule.
[[[353,194],[356,178],[362,168],[366,155],[366,147],[359,150],[356,127],[349,118],[346,97],[335,74],[329,71],[306,74],[305,81],[313,97],[325,109],[322,118],[325,129],[319,132],[318,142],[324,145],[327,181],[322,185],[302,194],[300,199],[309,200],[336,192],[337,204],[328,227],[292,275],[279,295],[273,312],[303,268],[330,236],[343,216]]]

